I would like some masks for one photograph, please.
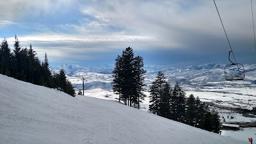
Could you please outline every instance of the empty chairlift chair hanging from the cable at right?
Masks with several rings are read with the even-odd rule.
[[[230,60],[230,52],[228,53],[228,60],[231,64],[226,65],[225,70],[225,79],[226,81],[237,81],[244,79],[244,66],[241,63],[233,63]]]

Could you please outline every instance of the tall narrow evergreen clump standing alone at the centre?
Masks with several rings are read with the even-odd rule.
[[[146,70],[141,56],[135,56],[131,47],[127,47],[122,56],[117,56],[113,70],[113,90],[119,95],[119,101],[125,105],[140,109],[141,99],[145,98],[143,88]]]

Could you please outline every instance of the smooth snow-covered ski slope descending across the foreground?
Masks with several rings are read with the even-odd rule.
[[[0,79],[0,143],[244,143],[113,100]]]

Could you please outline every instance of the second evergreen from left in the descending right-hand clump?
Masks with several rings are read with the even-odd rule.
[[[185,95],[186,93],[183,92],[179,84],[176,83],[172,91],[172,100],[170,102],[170,118],[172,120],[182,123],[186,122]]]

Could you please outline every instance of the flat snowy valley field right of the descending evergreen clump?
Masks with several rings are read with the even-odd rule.
[[[247,92],[248,94],[247,94]],[[186,88],[186,94],[193,94],[199,97],[202,101],[213,102],[220,106],[228,106],[232,108],[246,108],[252,109],[256,106],[256,86],[244,88],[244,86],[237,87],[205,87],[200,90],[194,88]]]

